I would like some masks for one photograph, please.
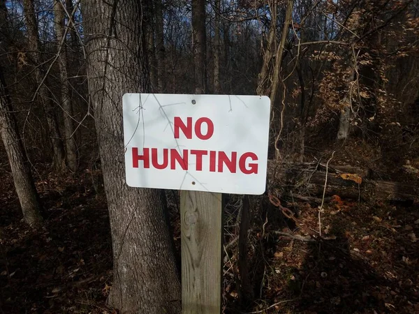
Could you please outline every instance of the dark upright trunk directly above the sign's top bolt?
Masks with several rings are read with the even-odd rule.
[[[207,91],[205,0],[192,1],[192,50],[195,73],[195,94]]]

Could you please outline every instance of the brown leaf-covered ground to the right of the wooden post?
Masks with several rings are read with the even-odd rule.
[[[292,204],[297,219],[318,231],[318,207]],[[419,313],[419,212],[339,195],[323,208],[322,235],[327,237],[321,243],[277,236],[277,231],[307,236],[292,220],[281,218],[277,207],[254,213],[249,269],[256,299],[240,309],[227,301],[224,313]],[[234,267],[237,256],[231,250]],[[224,270],[230,267],[226,263]],[[235,287],[234,276],[225,280]],[[285,302],[274,306],[279,301]],[[240,303],[240,297],[234,302]]]

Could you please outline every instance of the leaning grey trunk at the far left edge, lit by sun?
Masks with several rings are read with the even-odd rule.
[[[32,179],[31,168],[29,167],[22,140],[19,137],[15,116],[12,107],[3,73],[0,68],[0,127],[1,139],[12,170],[13,181],[24,221],[32,227],[41,224],[42,217],[39,211],[38,194]]]

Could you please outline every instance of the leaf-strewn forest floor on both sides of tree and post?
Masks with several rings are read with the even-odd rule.
[[[100,173],[65,176],[37,167],[45,224],[31,230],[22,222],[6,164],[0,168],[0,313],[117,313],[105,305],[112,246],[105,195],[92,180]],[[319,242],[277,234],[307,238],[304,230],[318,232],[317,204],[283,203],[302,230],[267,197],[256,202],[249,234],[252,289],[240,299],[237,248],[230,246],[223,313],[419,313],[418,204],[335,197],[323,205],[325,240]],[[226,244],[237,234],[236,211],[226,209]],[[176,213],[172,223],[179,248]]]

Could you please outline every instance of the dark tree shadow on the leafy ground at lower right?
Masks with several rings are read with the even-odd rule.
[[[349,246],[344,229],[332,227],[336,239],[311,242],[302,266],[288,281],[293,313],[400,313],[394,304],[399,291]]]

